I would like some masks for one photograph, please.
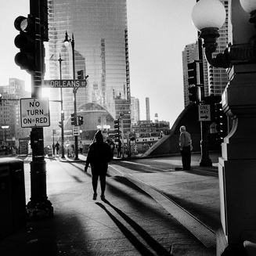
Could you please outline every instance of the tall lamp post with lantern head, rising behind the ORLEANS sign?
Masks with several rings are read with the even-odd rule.
[[[75,79],[75,65],[74,65],[74,34],[72,33],[72,38],[70,38],[67,34],[65,34],[65,40],[64,45],[68,47],[70,45],[72,47],[72,58],[73,58],[73,79]],[[73,95],[74,95],[74,119],[77,119],[77,89],[73,89]],[[78,126],[78,124],[76,124]],[[78,136],[74,136],[74,160],[78,160]]]

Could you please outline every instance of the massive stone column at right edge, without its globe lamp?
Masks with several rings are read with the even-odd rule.
[[[230,251],[243,255],[242,233],[256,231],[255,29],[239,0],[232,1],[229,15],[233,68],[222,106],[233,118],[233,128],[222,143],[218,163],[222,229],[217,234],[217,255],[229,255]]]

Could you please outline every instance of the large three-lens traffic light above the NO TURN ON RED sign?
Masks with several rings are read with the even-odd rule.
[[[21,70],[27,70],[32,74],[36,68],[36,28],[35,20],[31,15],[27,18],[18,16],[14,21],[14,27],[20,31],[14,40],[14,44],[20,49],[14,58]]]

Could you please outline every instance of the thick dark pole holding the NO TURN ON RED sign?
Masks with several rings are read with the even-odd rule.
[[[46,2],[47,5],[47,2]],[[31,15],[36,20],[37,60],[35,70],[31,74],[31,97],[41,97],[41,82],[44,74],[45,49],[41,39],[40,0],[31,0]],[[29,218],[41,219],[53,216],[53,207],[46,193],[46,163],[44,156],[44,132],[42,127],[33,127],[31,131],[31,200],[27,203]]]

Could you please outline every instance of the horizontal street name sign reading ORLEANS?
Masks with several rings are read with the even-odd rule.
[[[42,82],[44,88],[78,88],[86,85],[87,81],[85,79],[44,80]]]

